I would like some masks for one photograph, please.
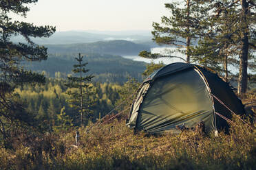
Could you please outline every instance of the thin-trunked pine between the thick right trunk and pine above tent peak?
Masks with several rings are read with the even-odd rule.
[[[228,5],[228,2],[222,2],[222,5]],[[204,8],[213,9],[215,2],[204,1]],[[202,22],[209,27],[204,32],[204,36],[198,40],[198,46],[191,49],[193,51],[193,62],[204,67],[224,73],[224,80],[228,81],[228,65],[237,64],[235,55],[237,55],[236,40],[237,31],[234,29],[235,15],[237,10],[229,8],[226,12],[215,16],[209,15],[207,21]]]

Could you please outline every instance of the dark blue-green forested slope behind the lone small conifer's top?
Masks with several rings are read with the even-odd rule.
[[[23,65],[32,71],[46,71],[47,77],[55,77],[57,72],[60,72],[61,77],[67,77],[67,74],[71,73],[77,55],[78,53],[49,54],[47,60],[26,62]],[[128,76],[142,81],[141,73],[146,69],[145,62],[108,54],[89,54],[84,58],[84,62],[88,62],[87,69],[90,69],[89,74],[95,75],[95,82],[123,83],[127,81]]]

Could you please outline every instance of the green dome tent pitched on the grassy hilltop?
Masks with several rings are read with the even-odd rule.
[[[203,121],[206,132],[228,130],[232,112],[244,106],[231,86],[195,64],[173,63],[152,73],[140,86],[127,126],[149,134],[179,133]]]

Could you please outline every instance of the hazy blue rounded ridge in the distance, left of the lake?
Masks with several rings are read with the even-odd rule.
[[[45,45],[48,53],[108,53],[114,55],[138,55],[140,51],[150,50],[149,45],[136,44],[127,40],[109,40],[71,45]]]

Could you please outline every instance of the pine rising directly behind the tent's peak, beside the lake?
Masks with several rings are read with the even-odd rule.
[[[184,6],[184,8],[180,8]],[[201,36],[202,29],[205,29],[201,24],[206,17],[208,9],[201,8],[200,1],[185,0],[172,1],[166,3],[165,7],[170,10],[171,16],[162,16],[161,23],[153,23],[153,40],[160,45],[169,45],[177,47],[178,51],[186,55],[186,60],[179,56],[167,55],[170,58],[180,58],[184,62],[191,62],[191,47],[193,42],[196,42]],[[160,58],[159,54],[151,54],[147,51],[142,51],[139,56],[144,58]]]

